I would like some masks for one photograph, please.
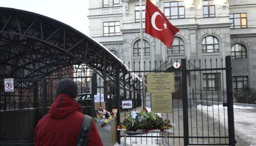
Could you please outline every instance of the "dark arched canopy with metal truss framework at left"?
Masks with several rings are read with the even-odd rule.
[[[141,79],[102,44],[60,21],[36,13],[0,7],[0,80],[43,78],[59,69],[86,64],[103,79],[140,90]],[[125,72],[125,73],[124,73]]]

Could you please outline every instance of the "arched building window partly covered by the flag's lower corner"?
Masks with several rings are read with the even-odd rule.
[[[185,53],[184,42],[179,37],[174,37],[171,49],[167,48],[167,54]]]

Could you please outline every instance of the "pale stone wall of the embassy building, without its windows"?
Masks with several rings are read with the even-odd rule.
[[[139,0],[119,0],[120,6],[102,7],[102,0],[89,0],[89,35],[102,43],[109,50],[119,53],[119,58],[126,64],[141,61],[140,56],[133,56],[133,44],[140,39],[139,22],[135,22],[135,6]],[[145,5],[145,0],[141,0]],[[151,0],[163,12],[164,2],[176,0]],[[181,1],[181,0],[179,0]],[[111,3],[112,2],[112,3]],[[180,29],[176,36],[184,41],[184,54],[167,54],[167,47],[158,39],[143,33],[143,39],[150,43],[150,56],[144,56],[145,62],[162,62],[185,58],[186,60],[213,59],[213,66],[221,67],[221,59],[225,64],[225,57],[231,55],[231,48],[236,43],[246,46],[247,58],[232,59],[233,76],[248,76],[249,86],[256,89],[256,1],[255,0],[215,0],[215,17],[203,17],[202,0],[184,0],[185,18],[170,19],[170,22]],[[230,29],[229,14],[247,13],[247,28]],[[103,22],[120,21],[120,36],[103,36]],[[143,22],[143,32],[145,23]],[[219,52],[202,53],[202,39],[205,36],[215,36],[219,41]],[[219,60],[216,64],[215,60]],[[146,63],[147,64],[147,63]],[[210,64],[210,63],[209,63]],[[159,64],[158,64],[159,65]],[[154,69],[154,63],[145,66]],[[196,64],[198,67],[198,64]],[[135,70],[139,68],[135,66]],[[158,69],[158,68],[157,68]]]

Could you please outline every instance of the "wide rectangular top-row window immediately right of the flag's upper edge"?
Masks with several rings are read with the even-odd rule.
[[[184,1],[164,2],[164,13],[168,19],[185,18]]]

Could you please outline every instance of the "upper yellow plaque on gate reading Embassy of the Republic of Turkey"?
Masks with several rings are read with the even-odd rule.
[[[148,92],[175,92],[174,73],[148,73],[147,74]]]

